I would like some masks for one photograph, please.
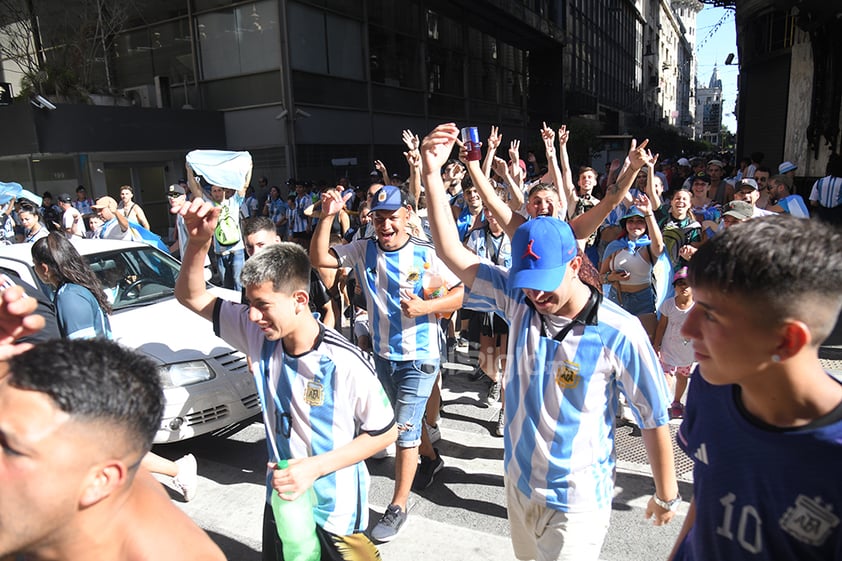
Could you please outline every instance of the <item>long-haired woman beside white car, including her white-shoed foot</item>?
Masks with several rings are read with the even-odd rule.
[[[62,338],[111,339],[108,297],[90,265],[66,237],[51,232],[32,244],[32,263],[38,278],[55,288],[53,304]],[[185,501],[195,495],[198,480],[193,454],[173,462],[148,452],[141,465],[172,477]]]

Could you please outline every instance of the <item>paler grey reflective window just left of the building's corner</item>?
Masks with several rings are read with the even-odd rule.
[[[196,27],[205,80],[280,68],[277,2],[203,14]]]

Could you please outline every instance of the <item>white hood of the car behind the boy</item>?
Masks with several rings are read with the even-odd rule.
[[[213,292],[223,292],[226,299],[239,301],[236,292],[222,289],[213,289]],[[203,359],[231,351],[230,345],[214,335],[211,322],[179,304],[174,297],[115,312],[110,321],[114,339],[162,364]]]

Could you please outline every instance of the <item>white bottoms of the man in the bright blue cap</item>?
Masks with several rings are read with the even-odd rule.
[[[505,478],[506,511],[518,559],[597,561],[608,533],[611,508],[562,512],[531,501]]]

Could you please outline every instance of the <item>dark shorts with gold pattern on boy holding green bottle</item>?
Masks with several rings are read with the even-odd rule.
[[[318,524],[316,535],[321,545],[322,561],[379,561],[377,546],[363,534],[357,532],[348,536],[331,534]],[[263,508],[263,555],[262,561],[283,561],[283,542],[278,536],[272,507]]]

